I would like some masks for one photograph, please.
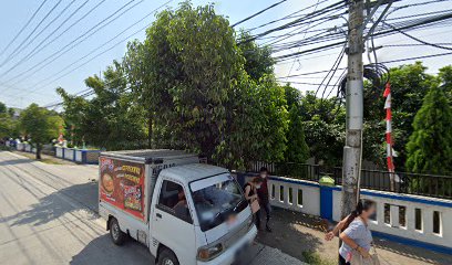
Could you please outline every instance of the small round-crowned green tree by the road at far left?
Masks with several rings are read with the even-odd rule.
[[[21,113],[20,127],[35,146],[37,159],[41,159],[42,145],[58,137],[63,123],[60,116],[37,104],[31,104]]]

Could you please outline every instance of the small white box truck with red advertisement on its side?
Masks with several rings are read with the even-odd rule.
[[[158,265],[223,265],[257,234],[228,170],[177,150],[102,152],[99,211],[113,242],[145,244]]]

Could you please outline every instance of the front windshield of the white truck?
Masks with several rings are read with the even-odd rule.
[[[195,181],[191,188],[202,231],[216,227],[248,205],[229,174]]]

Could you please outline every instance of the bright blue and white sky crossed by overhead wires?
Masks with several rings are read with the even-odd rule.
[[[224,0],[214,1],[216,12],[227,17],[230,23],[240,21],[279,0]],[[44,3],[43,3],[44,2]],[[126,43],[133,39],[143,40],[144,29],[155,19],[154,14],[164,8],[176,8],[179,1],[173,0],[31,0],[31,1],[7,1],[2,0],[2,9],[0,10],[0,102],[6,103],[9,107],[24,108],[31,103],[38,103],[41,106],[58,103],[61,100],[55,93],[55,88],[61,86],[69,93],[74,94],[86,89],[84,80],[94,74],[100,74],[105,70],[113,60],[121,60],[126,51]],[[206,4],[212,1],[194,0],[194,6]],[[297,10],[315,4],[317,1],[308,0],[287,0],[281,4],[253,18],[238,28],[251,29],[273,20],[277,20],[288,15]],[[315,9],[319,10],[336,1],[320,1],[319,4],[300,12],[307,13]],[[419,0],[402,0],[393,4],[393,10],[397,7],[405,4],[419,4],[424,1]],[[43,4],[42,4],[43,3]],[[116,12],[121,7],[127,4],[122,11]],[[18,35],[18,38],[8,46],[13,38],[25,25],[35,10],[42,4],[42,8],[31,20],[27,28]],[[135,6],[136,4],[136,6]],[[96,7],[85,18],[81,19],[92,8]],[[52,12],[50,12],[53,9]],[[130,8],[127,10],[127,8]],[[378,12],[381,12],[380,8]],[[434,12],[440,10],[452,9],[452,1],[443,0],[427,6],[415,6],[404,9],[399,9],[391,13],[390,18],[400,18],[403,15],[421,14],[425,12]],[[124,13],[122,13],[124,11]],[[50,12],[49,15],[47,15]],[[62,13],[61,13],[62,12]],[[116,13],[115,13],[116,12]],[[59,17],[59,14],[61,15]],[[70,14],[73,14],[70,19]],[[111,23],[101,28],[109,20],[104,21],[109,15],[117,15],[119,18]],[[47,18],[45,18],[47,15]],[[40,21],[43,22],[40,24]],[[113,17],[114,18],[114,17]],[[345,17],[347,18],[347,17]],[[295,19],[295,18],[294,18]],[[75,23],[71,29],[61,34],[66,28]],[[260,28],[251,31],[256,34],[265,30],[281,25],[292,19],[284,20],[278,23]],[[65,22],[64,22],[65,21]],[[102,22],[104,21],[104,22]],[[64,23],[63,23],[64,22]],[[59,25],[63,25],[58,29]],[[90,35],[85,33],[92,26],[101,23],[96,29],[97,32]],[[343,19],[338,19],[329,23],[322,24],[320,28],[333,28],[345,23]],[[451,42],[451,21],[441,23],[434,28],[410,31],[409,33],[433,43]],[[318,28],[318,29],[320,29]],[[34,30],[35,29],[35,30]],[[316,23],[309,24],[309,31],[315,30]],[[141,31],[140,31],[141,30]],[[290,29],[292,30],[292,29]],[[277,32],[274,35],[287,33],[287,31]],[[133,34],[137,32],[136,34]],[[284,40],[290,42],[309,38],[314,33],[296,31],[299,34]],[[60,38],[55,39],[58,35]],[[30,35],[30,38],[28,38]],[[109,42],[111,39],[115,38]],[[79,40],[82,42],[75,41]],[[273,35],[269,35],[270,38]],[[258,40],[259,44],[271,41],[271,39]],[[50,44],[48,44],[50,43]],[[107,43],[107,44],[105,44]],[[381,46],[377,51],[379,62],[391,61],[397,59],[430,55],[448,52],[438,47],[430,46],[387,46],[393,44],[415,43],[402,34],[394,34],[376,39],[374,45]],[[444,44],[446,45],[446,43]],[[452,45],[450,45],[452,47]],[[8,47],[8,49],[7,49]],[[304,51],[315,47],[302,46],[285,50],[275,53],[274,56],[279,56],[290,52]],[[62,50],[63,49],[63,50]],[[33,51],[34,50],[34,51]],[[68,51],[66,51],[68,50]],[[16,52],[14,52],[16,51]],[[66,51],[61,53],[61,51]],[[278,63],[275,67],[276,75],[281,82],[298,82],[310,83],[295,84],[301,92],[316,91],[318,83],[325,77],[325,74],[306,75],[299,77],[285,78],[287,75],[299,75],[316,71],[325,71],[331,68],[341,49],[328,50],[312,55],[300,56],[295,60]],[[450,51],[449,51],[450,52]],[[61,56],[59,56],[62,54]],[[99,54],[99,56],[96,56]],[[363,54],[364,62],[368,62],[367,54]],[[54,59],[58,56],[56,59]],[[94,57],[95,56],[95,57]],[[432,57],[422,60],[424,65],[429,67],[428,73],[435,74],[442,66],[452,64],[452,55]],[[412,63],[407,61],[403,63]],[[397,66],[397,64],[387,64],[387,66]],[[347,65],[347,60],[343,59],[340,67]],[[339,72],[337,75],[339,76]],[[337,78],[333,77],[333,81]],[[321,87],[320,92],[325,88]],[[330,89],[330,88],[328,88]]]

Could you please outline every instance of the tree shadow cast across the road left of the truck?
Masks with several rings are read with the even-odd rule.
[[[14,181],[20,184],[27,182],[25,179],[16,179]],[[35,189],[39,188],[37,187]],[[37,193],[37,197],[40,193],[39,190],[33,191],[31,189],[30,192]],[[64,198],[76,201],[78,203],[69,203]],[[75,184],[55,191],[49,195],[40,198],[39,202],[32,204],[30,209],[14,215],[6,216],[2,221],[12,221],[11,225],[41,225],[59,219],[65,213],[84,210],[86,208],[91,211],[99,212],[96,182]]]

